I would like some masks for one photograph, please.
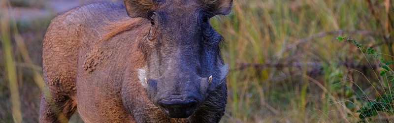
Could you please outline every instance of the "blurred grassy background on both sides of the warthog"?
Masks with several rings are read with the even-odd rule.
[[[0,123],[38,122],[45,31],[91,1],[0,0]],[[357,110],[391,92],[379,61],[336,37],[393,61],[392,0],[234,0],[231,14],[211,24],[230,66],[222,123],[355,123]],[[378,113],[371,122],[394,123]],[[81,122],[78,114],[70,120]]]

